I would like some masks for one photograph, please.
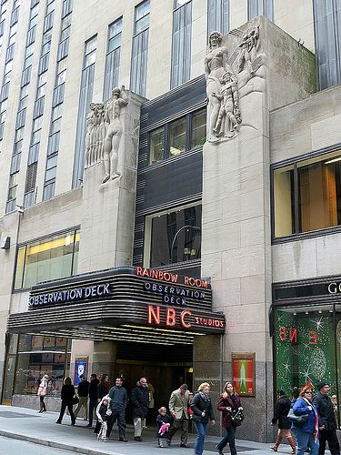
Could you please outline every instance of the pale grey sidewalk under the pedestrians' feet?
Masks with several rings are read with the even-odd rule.
[[[35,444],[43,444],[55,449],[68,452],[85,453],[88,455],[160,455],[165,450],[157,447],[155,429],[144,430],[143,442],[134,441],[134,430],[128,427],[126,437],[128,442],[118,442],[117,429],[114,426],[112,438],[106,442],[95,439],[94,430],[85,428],[87,422],[77,419],[75,427],[70,425],[70,417],[65,415],[64,424],[56,425],[58,414],[56,412],[37,413],[36,410],[15,408],[13,406],[0,406],[0,435],[17,440],[27,440]],[[175,436],[172,445],[166,449],[168,455],[192,455],[193,450],[179,447],[179,437]],[[193,447],[195,435],[190,435],[188,443]],[[217,453],[215,445],[220,439],[207,437],[205,454]],[[269,455],[271,444],[236,440],[236,448],[243,455]],[[289,446],[283,445],[277,453],[289,453]],[[229,453],[228,448],[225,450]]]

